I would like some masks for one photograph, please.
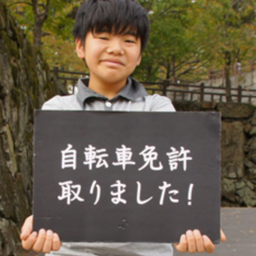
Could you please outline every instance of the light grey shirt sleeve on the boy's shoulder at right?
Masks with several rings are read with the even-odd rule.
[[[152,112],[175,112],[175,108],[168,97],[154,94],[152,96],[151,110]]]

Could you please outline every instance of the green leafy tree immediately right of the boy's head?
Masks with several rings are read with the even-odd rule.
[[[207,58],[202,58],[202,35],[193,1],[142,1],[148,9],[151,36],[136,75],[143,80],[194,80]],[[193,75],[192,75],[193,74]]]

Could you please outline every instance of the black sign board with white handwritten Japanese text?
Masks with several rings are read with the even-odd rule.
[[[220,241],[220,114],[36,110],[34,230],[63,242]]]

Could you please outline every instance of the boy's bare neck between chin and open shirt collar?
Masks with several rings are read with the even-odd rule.
[[[112,99],[125,87],[126,82],[127,79],[120,82],[110,83],[90,77],[88,87],[94,92],[102,94],[108,99]]]

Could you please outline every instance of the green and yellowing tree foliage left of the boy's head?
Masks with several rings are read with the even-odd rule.
[[[76,10],[81,1],[37,0],[36,2],[41,23],[36,22],[32,0],[9,0],[8,7],[15,14],[26,36],[41,48],[51,68],[58,66],[60,69],[70,71],[85,71],[85,63],[76,57],[75,43],[71,35]]]

